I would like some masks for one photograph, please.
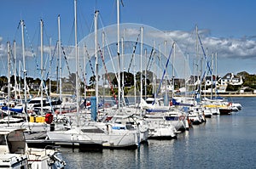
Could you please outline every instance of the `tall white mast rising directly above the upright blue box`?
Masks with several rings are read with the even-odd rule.
[[[94,29],[95,29],[95,38],[94,38],[94,43],[95,43],[95,70],[96,70],[96,112],[98,112],[98,104],[99,104],[99,99],[98,99],[98,90],[99,90],[99,82],[98,82],[98,56],[97,56],[97,51],[98,51],[98,10],[95,11],[95,18],[94,18]]]

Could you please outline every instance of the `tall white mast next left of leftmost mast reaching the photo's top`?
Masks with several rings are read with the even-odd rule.
[[[60,100],[62,101],[62,81],[61,81],[61,16],[58,15],[58,49],[59,49],[59,78],[60,78]],[[60,114],[62,114],[61,106],[60,106]]]

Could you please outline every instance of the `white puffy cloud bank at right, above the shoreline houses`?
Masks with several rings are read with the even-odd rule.
[[[168,31],[168,36],[177,42],[183,53],[195,54],[195,32]],[[218,53],[218,57],[232,59],[249,59],[256,57],[256,42],[253,37],[210,37],[210,31],[200,30],[199,36],[208,54]],[[200,47],[201,49],[201,47]]]

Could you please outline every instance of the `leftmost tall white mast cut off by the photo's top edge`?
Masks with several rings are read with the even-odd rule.
[[[77,104],[77,126],[79,127],[79,51],[77,35],[77,0],[74,0],[74,27],[75,27],[75,53],[76,53],[76,104]]]

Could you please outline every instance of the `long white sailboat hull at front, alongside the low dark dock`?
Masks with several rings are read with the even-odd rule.
[[[136,130],[114,129],[113,126],[104,123],[100,126],[74,127],[68,131],[47,132],[47,135],[49,140],[64,142],[95,141],[102,142],[103,147],[110,148],[137,146],[139,136]]]

